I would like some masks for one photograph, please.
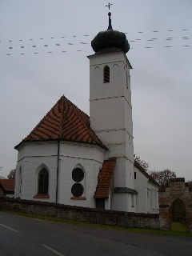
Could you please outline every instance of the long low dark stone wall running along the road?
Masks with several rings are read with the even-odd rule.
[[[0,197],[0,209],[111,226],[159,229],[158,214],[135,214],[117,210],[98,210],[79,206],[66,206],[54,202],[37,202],[6,197]]]

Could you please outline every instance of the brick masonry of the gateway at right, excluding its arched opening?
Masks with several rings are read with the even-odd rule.
[[[175,199],[181,199],[186,210],[186,227],[192,232],[192,190],[185,183],[185,178],[171,178],[169,184],[159,190],[158,197],[160,228],[164,226],[166,230],[170,230],[171,206]]]

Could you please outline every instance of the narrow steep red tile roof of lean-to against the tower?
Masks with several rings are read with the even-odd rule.
[[[115,162],[115,159],[103,162],[102,170],[98,174],[98,185],[94,193],[94,198],[109,198]]]

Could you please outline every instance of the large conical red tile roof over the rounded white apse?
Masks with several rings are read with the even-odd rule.
[[[22,142],[62,139],[97,144],[108,150],[90,128],[90,118],[62,96]],[[22,143],[21,142],[21,143]],[[19,143],[15,148],[17,148]]]

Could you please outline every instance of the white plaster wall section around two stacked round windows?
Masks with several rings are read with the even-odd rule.
[[[62,144],[59,158],[59,197],[58,202],[67,205],[84,206],[95,208],[94,192],[98,183],[98,172],[102,168],[104,152],[98,146],[66,145]],[[82,180],[86,200],[71,199],[71,187],[74,185],[72,170],[75,167],[84,170],[85,177]]]

